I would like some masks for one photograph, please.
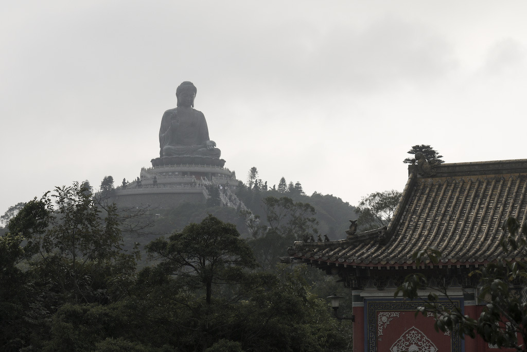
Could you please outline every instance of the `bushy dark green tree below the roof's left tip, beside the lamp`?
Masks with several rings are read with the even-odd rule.
[[[246,319],[233,324],[236,335],[230,339],[250,351],[347,350],[351,326],[332,318],[326,300],[313,294],[308,270],[305,265],[293,270],[280,265],[276,280],[239,307],[238,316]]]

